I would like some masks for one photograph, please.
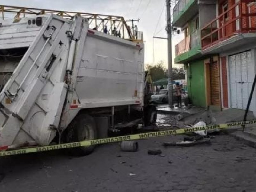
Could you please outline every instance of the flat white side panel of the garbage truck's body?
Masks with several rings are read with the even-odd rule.
[[[119,39],[117,39],[119,41]],[[87,36],[76,92],[83,106],[143,101],[143,54],[129,44]],[[137,92],[137,96],[135,96]]]

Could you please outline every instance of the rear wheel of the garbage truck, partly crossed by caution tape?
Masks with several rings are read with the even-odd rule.
[[[69,124],[66,132],[67,143],[97,139],[97,128],[94,118],[87,114],[79,114]],[[95,145],[71,148],[73,156],[85,156],[93,152]]]

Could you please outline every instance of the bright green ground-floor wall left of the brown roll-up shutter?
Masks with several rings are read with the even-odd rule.
[[[204,60],[187,65],[188,96],[195,106],[206,107]]]

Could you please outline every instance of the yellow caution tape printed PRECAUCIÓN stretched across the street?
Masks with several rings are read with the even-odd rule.
[[[109,138],[103,138],[103,139],[65,143],[65,144],[59,144],[59,145],[49,145],[44,147],[24,148],[24,149],[18,149],[18,150],[3,151],[3,152],[0,152],[0,156],[34,153],[34,152],[41,152],[41,151],[51,151],[51,150],[57,150],[57,149],[67,149],[67,148],[98,145],[98,144],[113,143],[113,142],[120,142],[120,141],[127,141],[127,140],[145,139],[145,138],[151,138],[151,137],[162,137],[162,136],[177,135],[177,134],[183,134],[183,133],[189,133],[189,132],[195,132],[195,131],[227,129],[230,127],[237,127],[237,126],[242,126],[247,124],[256,124],[256,120],[245,121],[245,122],[238,121],[238,122],[232,122],[227,124],[215,124],[215,125],[209,125],[209,126],[191,127],[191,128],[183,128],[183,129],[176,129],[176,130],[147,132],[147,133],[126,135],[126,136],[119,136],[119,137],[109,137]]]

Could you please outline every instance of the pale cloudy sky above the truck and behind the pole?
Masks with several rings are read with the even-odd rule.
[[[167,37],[165,31],[165,0],[0,0],[0,5],[118,15],[123,16],[125,20],[140,19],[140,21],[135,24],[138,26],[138,31],[143,31],[145,64],[156,64],[160,61],[164,61],[167,67],[167,40],[153,40],[152,38],[153,36]],[[173,7],[174,3],[171,1],[171,14]],[[182,34],[172,35],[173,67],[180,67],[179,64],[174,64],[174,47],[175,44],[179,43],[183,38],[184,35]]]

